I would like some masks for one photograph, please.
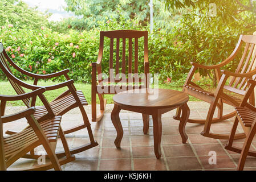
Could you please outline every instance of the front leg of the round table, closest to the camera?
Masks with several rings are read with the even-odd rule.
[[[162,121],[161,114],[157,111],[152,115],[153,132],[154,132],[154,150],[157,159],[161,158],[161,137],[162,137]]]

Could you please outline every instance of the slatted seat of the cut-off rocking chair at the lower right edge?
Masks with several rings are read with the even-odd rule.
[[[235,110],[237,111],[238,117],[241,119],[243,122],[243,125],[246,127],[250,127],[254,119],[256,118],[256,112],[245,109],[244,107],[236,107]]]

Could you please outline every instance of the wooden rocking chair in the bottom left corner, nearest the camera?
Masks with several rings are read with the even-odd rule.
[[[31,93],[21,94],[18,96],[0,95],[1,106],[3,106],[2,103],[6,103],[7,101],[24,100],[40,95],[44,91],[44,88],[39,88]],[[3,113],[2,109],[4,108],[1,107],[1,113]],[[33,115],[34,113],[35,107],[30,107],[29,109],[19,113],[0,117],[0,170],[6,170],[11,164],[26,155],[27,152],[34,150],[34,148],[40,145],[43,145],[51,163],[42,165],[38,164],[31,168],[23,168],[22,170],[46,170],[51,168],[61,170],[60,165],[75,160],[75,157],[70,154],[65,135],[60,127],[61,116],[56,116],[46,121],[38,122]],[[16,121],[21,118],[26,118],[30,126],[19,133],[3,137],[3,123]],[[58,159],[55,154],[56,143],[59,136],[66,152],[66,158],[62,159]]]

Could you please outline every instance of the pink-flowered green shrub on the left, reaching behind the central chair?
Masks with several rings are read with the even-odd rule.
[[[127,27],[127,28],[126,28]],[[97,60],[99,52],[100,30],[138,29],[141,30],[136,21],[124,21],[117,23],[108,20],[100,28],[79,32],[70,30],[68,34],[52,32],[50,28],[41,27],[37,30],[15,29],[13,26],[0,28],[0,41],[6,48],[6,52],[19,67],[36,73],[49,74],[70,69],[70,77],[75,81],[91,82],[91,63]],[[109,45],[109,40],[105,40]],[[127,42],[128,43],[128,42]],[[128,45],[126,46],[128,49]],[[140,60],[143,61],[141,51]],[[109,47],[104,50],[103,72],[108,72]],[[128,60],[128,54],[127,54]],[[140,65],[143,71],[144,64]],[[15,76],[21,79],[29,79],[24,75]],[[2,79],[5,76],[0,72]],[[64,77],[54,78],[63,81]]]

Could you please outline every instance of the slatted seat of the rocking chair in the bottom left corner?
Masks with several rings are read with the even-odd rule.
[[[49,142],[56,142],[58,140],[61,118],[61,116],[56,116],[53,119],[39,123]],[[17,134],[4,137],[3,143],[6,158],[9,158],[19,150],[22,150],[22,148],[26,148],[27,146],[38,142],[38,140],[39,138],[35,134],[32,127],[28,127]]]

